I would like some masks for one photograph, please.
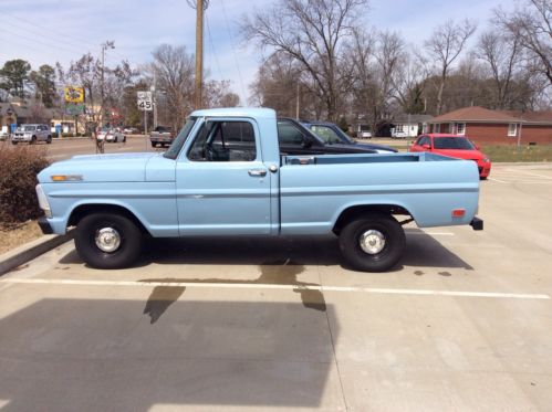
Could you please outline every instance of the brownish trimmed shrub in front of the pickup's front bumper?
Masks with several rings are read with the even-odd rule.
[[[37,173],[49,165],[37,146],[0,146],[0,226],[9,228],[42,214],[37,200]]]

